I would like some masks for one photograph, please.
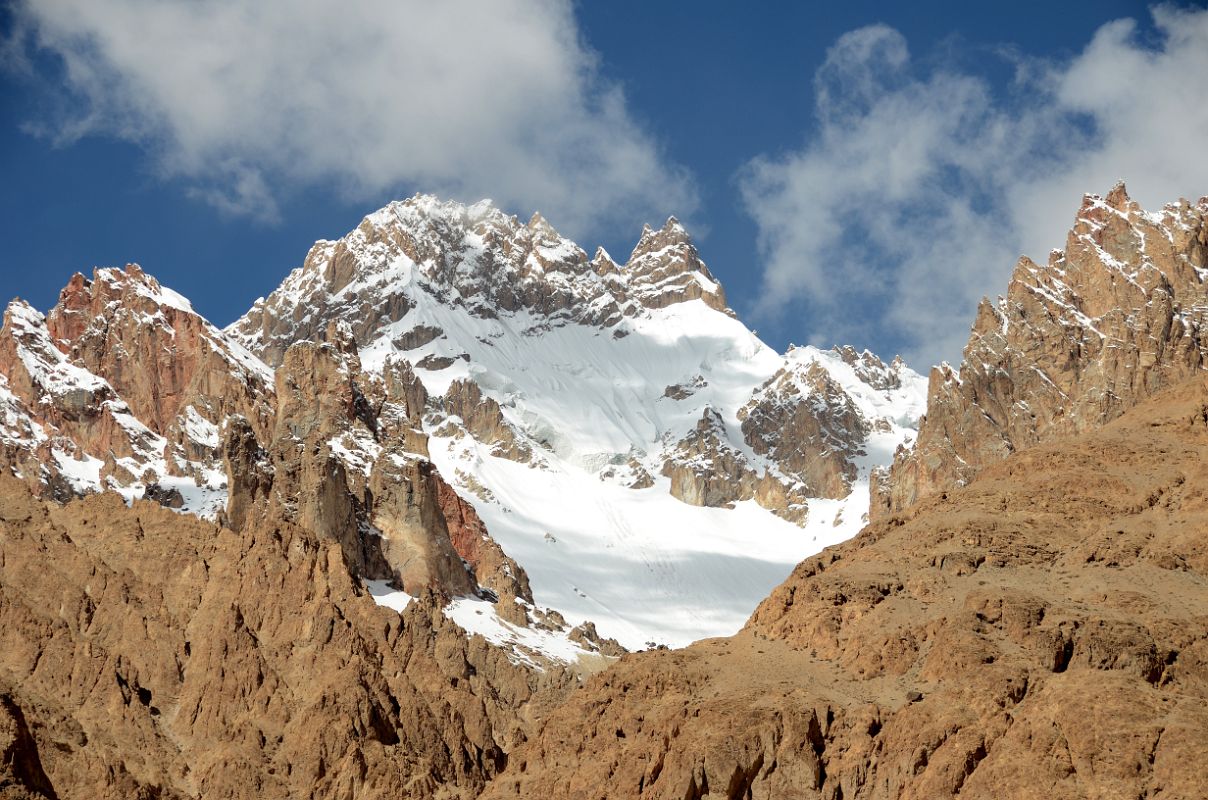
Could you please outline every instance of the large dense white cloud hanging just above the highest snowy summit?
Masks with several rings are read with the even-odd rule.
[[[24,0],[17,18],[64,62],[60,138],[140,143],[231,211],[332,181],[493,197],[571,232],[696,204],[569,0]]]

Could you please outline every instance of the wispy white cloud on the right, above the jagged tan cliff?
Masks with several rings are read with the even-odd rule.
[[[977,300],[1020,254],[1063,247],[1084,192],[1125,179],[1151,208],[1208,193],[1208,12],[1152,15],[1156,45],[1114,22],[1067,63],[1016,57],[999,94],[919,69],[892,28],[842,36],[805,146],[741,175],[766,256],[759,311],[803,311],[821,343],[957,360]]]

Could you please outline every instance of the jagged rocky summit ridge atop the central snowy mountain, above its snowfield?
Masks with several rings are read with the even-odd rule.
[[[675,218],[658,231],[647,226],[621,267],[603,249],[588,259],[539,213],[524,224],[489,201],[417,195],[370,214],[338,240],[315,243],[227,332],[278,364],[290,342],[321,341],[326,319],[350,320],[364,347],[429,298],[478,318],[535,314],[541,325],[612,327],[692,300],[731,313]]]

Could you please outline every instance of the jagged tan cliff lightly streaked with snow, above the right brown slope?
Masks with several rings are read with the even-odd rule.
[[[1149,213],[1123,185],[1088,195],[1065,249],[1021,259],[982,301],[959,373],[931,371],[916,445],[872,515],[960,486],[1009,453],[1119,417],[1206,366],[1208,198]]]

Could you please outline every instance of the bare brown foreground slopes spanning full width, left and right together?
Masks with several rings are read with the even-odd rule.
[[[338,543],[0,480],[0,796],[1202,798],[1208,379],[579,689]]]

